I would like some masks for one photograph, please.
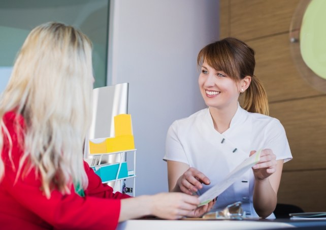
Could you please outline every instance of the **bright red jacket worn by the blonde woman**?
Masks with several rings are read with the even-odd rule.
[[[12,160],[16,170],[23,151],[17,141],[15,126],[24,127],[24,119],[8,112],[3,121],[12,138]],[[5,175],[0,182],[0,228],[1,229],[115,229],[120,213],[120,199],[130,196],[102,184],[86,162],[84,168],[88,176],[85,197],[75,193],[62,195],[59,191],[51,192],[47,199],[40,189],[41,180],[32,169],[23,179],[14,183],[17,171],[13,169],[8,155],[9,142],[4,138],[1,157],[5,163]]]

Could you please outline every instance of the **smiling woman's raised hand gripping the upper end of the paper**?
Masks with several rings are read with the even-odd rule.
[[[251,151],[250,156],[256,151]],[[256,180],[264,180],[276,172],[276,155],[271,149],[263,149],[260,152],[260,160],[252,167]]]

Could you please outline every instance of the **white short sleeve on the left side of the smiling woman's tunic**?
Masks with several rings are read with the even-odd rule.
[[[179,125],[178,121],[172,123],[169,127],[167,140],[166,140],[166,151],[164,160],[174,160],[186,163],[189,165],[186,153],[183,149],[179,138]]]

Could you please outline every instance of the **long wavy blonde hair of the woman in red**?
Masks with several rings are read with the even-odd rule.
[[[30,162],[40,173],[48,198],[53,189],[67,194],[73,183],[88,185],[83,144],[91,121],[91,49],[90,40],[72,26],[56,22],[37,26],[21,47],[1,97],[0,149],[5,135],[10,139],[3,116],[15,111],[25,120],[17,177],[23,163]],[[0,178],[4,175],[0,157]]]

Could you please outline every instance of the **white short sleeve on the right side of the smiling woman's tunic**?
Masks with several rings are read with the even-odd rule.
[[[267,139],[264,148],[272,149],[277,160],[283,159],[285,163],[292,159],[284,127],[278,119],[274,118],[268,124],[265,135]]]

